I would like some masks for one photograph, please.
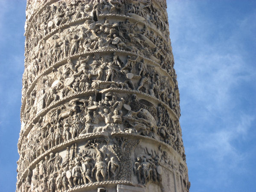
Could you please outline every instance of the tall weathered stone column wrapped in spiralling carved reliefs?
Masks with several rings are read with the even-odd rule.
[[[165,0],[28,0],[17,191],[189,191]]]

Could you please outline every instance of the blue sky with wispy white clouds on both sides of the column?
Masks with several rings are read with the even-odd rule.
[[[167,0],[191,192],[253,192],[256,1]],[[15,191],[25,0],[0,0],[0,191]]]

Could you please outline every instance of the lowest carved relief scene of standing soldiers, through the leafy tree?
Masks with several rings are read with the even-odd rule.
[[[107,180],[131,179],[131,151],[138,140],[97,137],[74,143],[66,151],[50,153],[22,180],[20,191],[64,191],[74,186]]]

